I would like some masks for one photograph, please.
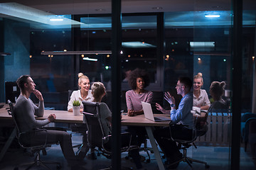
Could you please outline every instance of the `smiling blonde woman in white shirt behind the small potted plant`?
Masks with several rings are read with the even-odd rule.
[[[82,101],[92,101],[90,79],[82,73],[78,74],[78,91],[73,91],[68,101],[68,111],[73,111],[73,101],[80,101],[80,112],[83,111]]]

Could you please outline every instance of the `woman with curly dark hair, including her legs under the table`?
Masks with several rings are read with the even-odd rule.
[[[153,92],[147,91],[145,88],[149,86],[149,74],[142,69],[134,69],[129,73],[129,86],[132,90],[126,92],[127,115],[135,116],[144,114],[142,109],[142,101],[151,103],[153,100]],[[128,131],[132,134],[134,145],[140,147],[144,142],[146,130],[144,127],[128,126]],[[144,157],[142,157],[143,161]]]

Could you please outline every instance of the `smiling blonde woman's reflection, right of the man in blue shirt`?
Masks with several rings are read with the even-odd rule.
[[[206,90],[201,89],[203,86],[203,74],[199,72],[193,77],[193,106],[201,108],[201,110],[208,110],[210,101]]]

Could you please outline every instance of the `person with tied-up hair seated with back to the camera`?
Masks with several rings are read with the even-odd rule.
[[[92,96],[94,98],[93,102],[97,102],[100,104],[100,119],[102,122],[104,135],[107,136],[111,135],[112,133],[112,113],[110,111],[110,108],[108,108],[107,104],[101,102],[105,94],[106,89],[104,84],[102,84],[101,82],[95,82],[94,84],[92,84]],[[142,163],[139,161],[139,149],[133,149],[131,151],[131,157],[134,160],[137,169],[141,169]]]

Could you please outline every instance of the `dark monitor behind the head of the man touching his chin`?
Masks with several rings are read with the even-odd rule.
[[[5,95],[6,95],[6,103],[10,100],[13,103],[16,103],[18,95],[20,94],[20,89],[15,81],[6,81],[5,82]]]

